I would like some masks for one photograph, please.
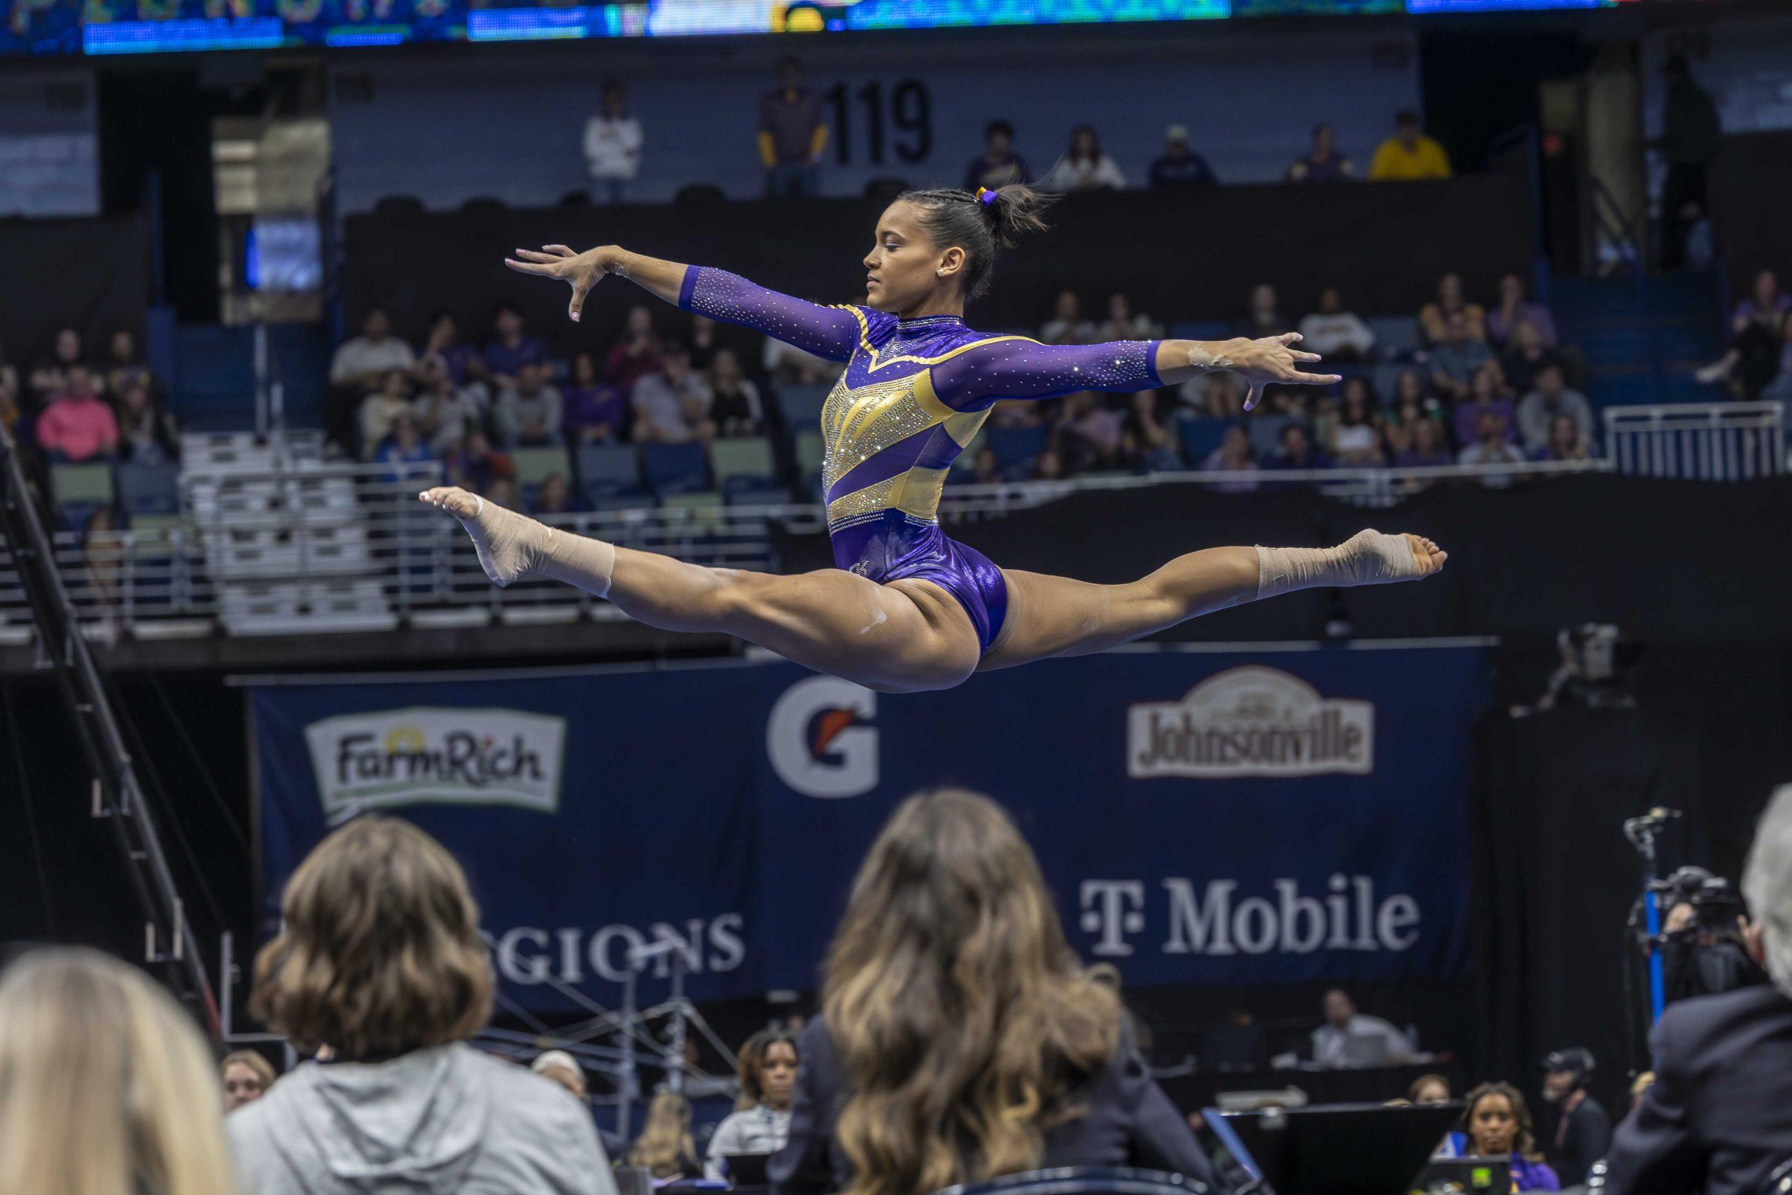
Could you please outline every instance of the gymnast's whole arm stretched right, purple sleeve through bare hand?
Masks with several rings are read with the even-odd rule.
[[[1265,383],[1331,385],[1339,374],[1303,373],[1317,353],[1290,348],[1297,331],[1262,340],[1109,340],[1106,344],[1039,344],[998,337],[932,365],[934,392],[957,410],[978,410],[1002,398],[1057,398],[1075,391],[1147,391],[1195,374],[1233,369],[1256,405]]]

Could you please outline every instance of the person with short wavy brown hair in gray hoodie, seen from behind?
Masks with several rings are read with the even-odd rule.
[[[246,1195],[382,1190],[615,1195],[590,1113],[466,1045],[491,960],[461,865],[410,822],[362,815],[287,881],[251,1009],[301,1062],[226,1122]],[[342,1175],[357,1175],[344,1179]]]

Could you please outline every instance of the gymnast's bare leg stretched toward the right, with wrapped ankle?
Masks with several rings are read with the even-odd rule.
[[[1292,589],[1416,580],[1443,568],[1446,557],[1419,536],[1362,530],[1335,548],[1190,552],[1124,586],[1002,570],[1009,582],[1007,625],[978,668],[1100,652],[1199,615]]]

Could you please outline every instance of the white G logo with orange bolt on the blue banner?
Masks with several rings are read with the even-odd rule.
[[[765,724],[765,754],[805,797],[857,797],[878,787],[878,695],[835,677],[785,690]]]

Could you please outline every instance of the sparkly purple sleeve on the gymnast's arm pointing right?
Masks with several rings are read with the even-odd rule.
[[[1000,398],[1057,398],[1077,391],[1150,391],[1158,340],[1039,344],[1025,337],[991,340],[932,367],[934,392],[955,410],[980,410]]]

